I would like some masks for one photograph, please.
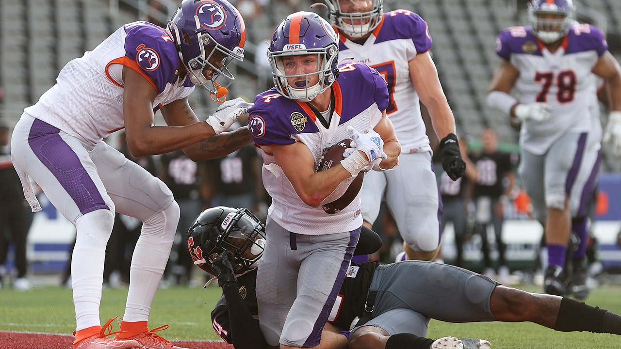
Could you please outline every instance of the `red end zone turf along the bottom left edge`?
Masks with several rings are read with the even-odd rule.
[[[0,332],[0,348],[2,349],[70,349],[71,343],[73,343],[71,335]],[[173,343],[190,349],[233,349],[233,346],[226,342],[173,341]]]

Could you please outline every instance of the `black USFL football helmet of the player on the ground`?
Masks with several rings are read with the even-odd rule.
[[[194,264],[207,273],[224,250],[233,253],[235,274],[256,268],[265,246],[265,224],[248,209],[218,206],[198,215],[188,231],[188,248]]]

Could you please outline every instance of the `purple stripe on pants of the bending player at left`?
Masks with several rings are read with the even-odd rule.
[[[30,128],[28,143],[32,152],[58,179],[71,196],[81,214],[109,209],[93,179],[79,161],[78,155],[60,137],[59,129],[35,119]]]

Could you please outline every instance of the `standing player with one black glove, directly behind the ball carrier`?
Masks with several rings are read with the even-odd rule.
[[[340,57],[364,62],[386,79],[386,114],[401,143],[399,166],[394,171],[366,175],[361,196],[365,225],[371,227],[377,219],[385,194],[404,240],[405,254],[400,257],[433,260],[440,250],[442,207],[419,102],[427,107],[440,139],[442,166],[448,176],[453,181],[460,178],[466,165],[455,135],[455,117],[429,53],[432,39],[427,23],[408,10],[383,13],[383,0],[325,3],[330,22],[341,35]]]

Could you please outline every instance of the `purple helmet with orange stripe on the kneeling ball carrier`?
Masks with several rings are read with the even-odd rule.
[[[317,55],[317,71],[309,74],[286,75],[284,57]],[[268,60],[272,68],[274,86],[289,99],[309,102],[330,88],[338,76],[338,35],[332,26],[314,12],[290,14],[281,22],[271,39]],[[309,85],[309,76],[319,73],[319,83]],[[289,85],[287,78],[306,78],[305,83]]]

